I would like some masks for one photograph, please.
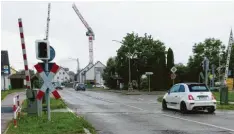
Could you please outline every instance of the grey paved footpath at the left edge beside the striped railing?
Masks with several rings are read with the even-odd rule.
[[[3,133],[7,127],[8,123],[12,121],[13,118],[13,97],[17,93],[12,93],[6,96],[4,100],[1,102],[1,132]],[[24,92],[19,92],[20,94],[20,101],[22,101],[26,98]]]

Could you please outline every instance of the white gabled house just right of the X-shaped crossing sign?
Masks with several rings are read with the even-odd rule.
[[[54,76],[53,82],[63,83],[63,82],[69,82],[69,81],[70,81],[70,76],[68,72],[66,71],[65,68],[60,67],[59,71]]]

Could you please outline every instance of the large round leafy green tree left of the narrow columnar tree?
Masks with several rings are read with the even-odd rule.
[[[117,51],[116,71],[123,78],[125,85],[129,82],[129,58],[131,67],[131,80],[137,80],[140,85],[141,76],[145,72],[153,72],[152,88],[161,89],[164,79],[165,46],[159,40],[154,40],[151,35],[128,33],[122,40],[123,45]],[[163,79],[161,79],[163,77]],[[160,78],[160,79],[159,79]]]

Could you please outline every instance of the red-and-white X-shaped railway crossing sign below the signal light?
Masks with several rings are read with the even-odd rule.
[[[52,68],[51,68],[50,73],[49,73],[48,76],[45,74],[45,72],[44,72],[44,70],[43,70],[43,68],[41,67],[40,64],[36,64],[34,67],[36,68],[37,72],[39,73],[39,75],[41,76],[41,78],[44,81],[41,89],[39,90],[39,92],[37,94],[37,99],[41,100],[41,98],[44,96],[47,88],[50,89],[50,92],[52,92],[52,94],[54,95],[54,97],[56,99],[59,99],[60,95],[57,92],[57,90],[55,89],[54,85],[51,83],[51,81],[54,78],[55,74],[59,70],[59,66],[54,63],[52,65]]]

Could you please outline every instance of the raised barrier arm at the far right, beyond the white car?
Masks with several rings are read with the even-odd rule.
[[[232,30],[230,33],[230,37],[229,37],[229,42],[228,42],[228,48],[227,48],[227,63],[225,66],[225,74],[224,74],[224,83],[226,82],[227,78],[228,78],[228,70],[229,70],[229,63],[230,63],[230,58],[231,58],[231,51],[232,51],[232,45],[234,43],[233,41],[233,35],[232,35]]]

